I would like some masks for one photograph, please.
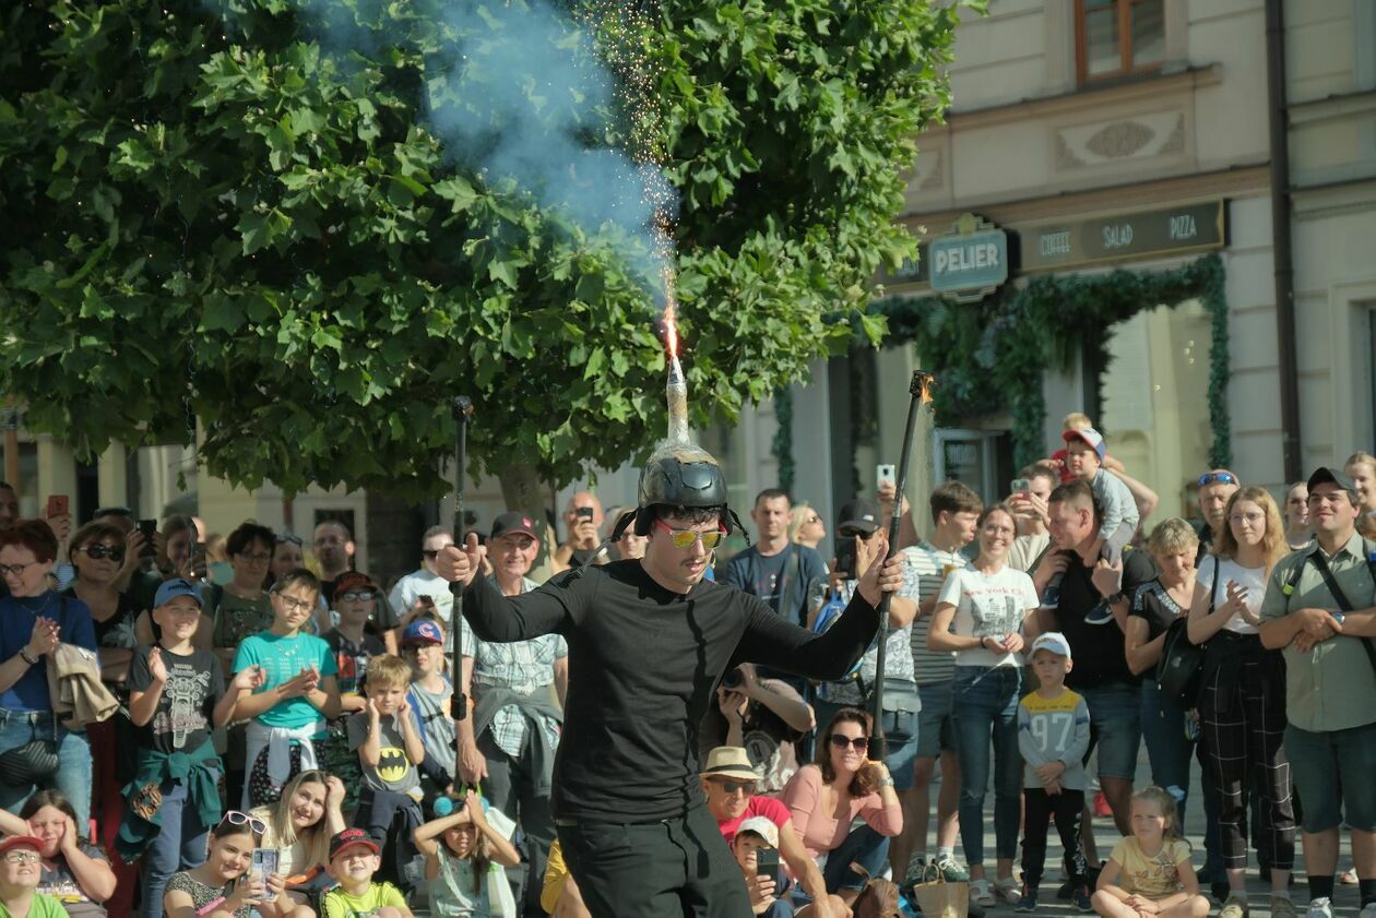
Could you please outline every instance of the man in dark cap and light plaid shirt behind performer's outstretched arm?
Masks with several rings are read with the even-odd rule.
[[[510,511],[493,520],[487,557],[502,596],[535,589],[526,574],[535,562],[537,540],[535,522],[524,513]],[[486,641],[466,623],[460,628],[460,691],[475,707],[458,721],[458,772],[465,782],[482,782],[493,807],[520,823],[530,866],[526,914],[544,915],[539,890],[555,841],[549,798],[568,690],[568,644],[560,634]]]

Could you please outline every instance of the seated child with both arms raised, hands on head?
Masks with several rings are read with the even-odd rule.
[[[447,816],[432,819],[413,835],[425,855],[425,884],[432,915],[490,918],[493,890],[483,884],[505,884],[505,867],[520,864],[520,853],[508,840],[515,826],[498,811],[484,811],[482,798],[472,790]],[[505,831],[504,831],[505,830]],[[506,889],[510,899],[510,889]]]

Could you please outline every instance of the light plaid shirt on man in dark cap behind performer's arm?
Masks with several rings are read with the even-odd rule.
[[[533,579],[522,578],[520,592],[535,589]],[[542,634],[528,641],[491,643],[473,634],[464,622],[461,629],[462,654],[473,659],[473,694],[482,695],[484,685],[510,688],[530,695],[555,681],[555,661],[568,657],[563,634]],[[545,714],[531,714],[545,731],[550,749],[559,747],[559,723]],[[516,705],[508,705],[495,714],[488,731],[497,747],[512,758],[520,757],[526,742],[527,716]]]

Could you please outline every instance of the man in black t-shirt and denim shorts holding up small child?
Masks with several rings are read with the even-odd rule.
[[[1113,809],[1120,833],[1131,831],[1132,779],[1142,738],[1138,677],[1123,650],[1131,596],[1156,577],[1146,552],[1127,551],[1117,566],[1099,557],[1099,508],[1086,482],[1069,482],[1051,491],[1049,529],[1055,552],[1047,552],[1032,581],[1038,592],[1057,571],[1061,601],[1039,611],[1039,630],[1061,632],[1075,654],[1075,670],[1065,684],[1090,707],[1090,749],[1099,750],[1099,787]],[[1121,574],[1121,586],[1119,575]],[[1105,607],[1112,617],[1105,615]]]

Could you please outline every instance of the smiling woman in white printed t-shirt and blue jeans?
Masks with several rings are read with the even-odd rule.
[[[960,758],[960,841],[970,864],[970,897],[992,906],[996,896],[1018,901],[1013,879],[1021,812],[1022,758],[1018,754],[1018,699],[1022,698],[1024,628],[1036,611],[1032,578],[1009,567],[1017,537],[1013,511],[995,504],[976,524],[980,556],[951,571],[932,614],[927,648],[955,652],[952,709]],[[992,735],[992,764],[991,764]],[[998,875],[984,875],[984,790],[993,769],[993,834]]]

